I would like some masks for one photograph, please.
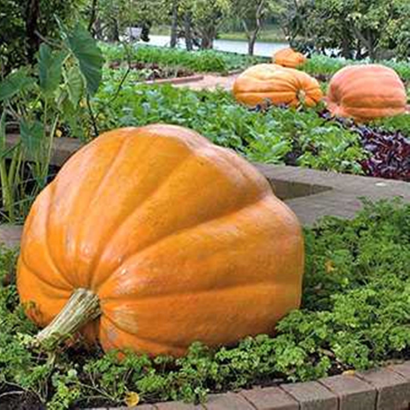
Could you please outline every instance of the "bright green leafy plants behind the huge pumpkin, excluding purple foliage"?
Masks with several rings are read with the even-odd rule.
[[[315,110],[271,107],[249,110],[226,91],[192,91],[125,84],[111,104],[114,84],[94,99],[101,130],[167,122],[192,128],[215,144],[235,149],[250,160],[290,163],[322,170],[360,173],[365,152],[359,137]]]

